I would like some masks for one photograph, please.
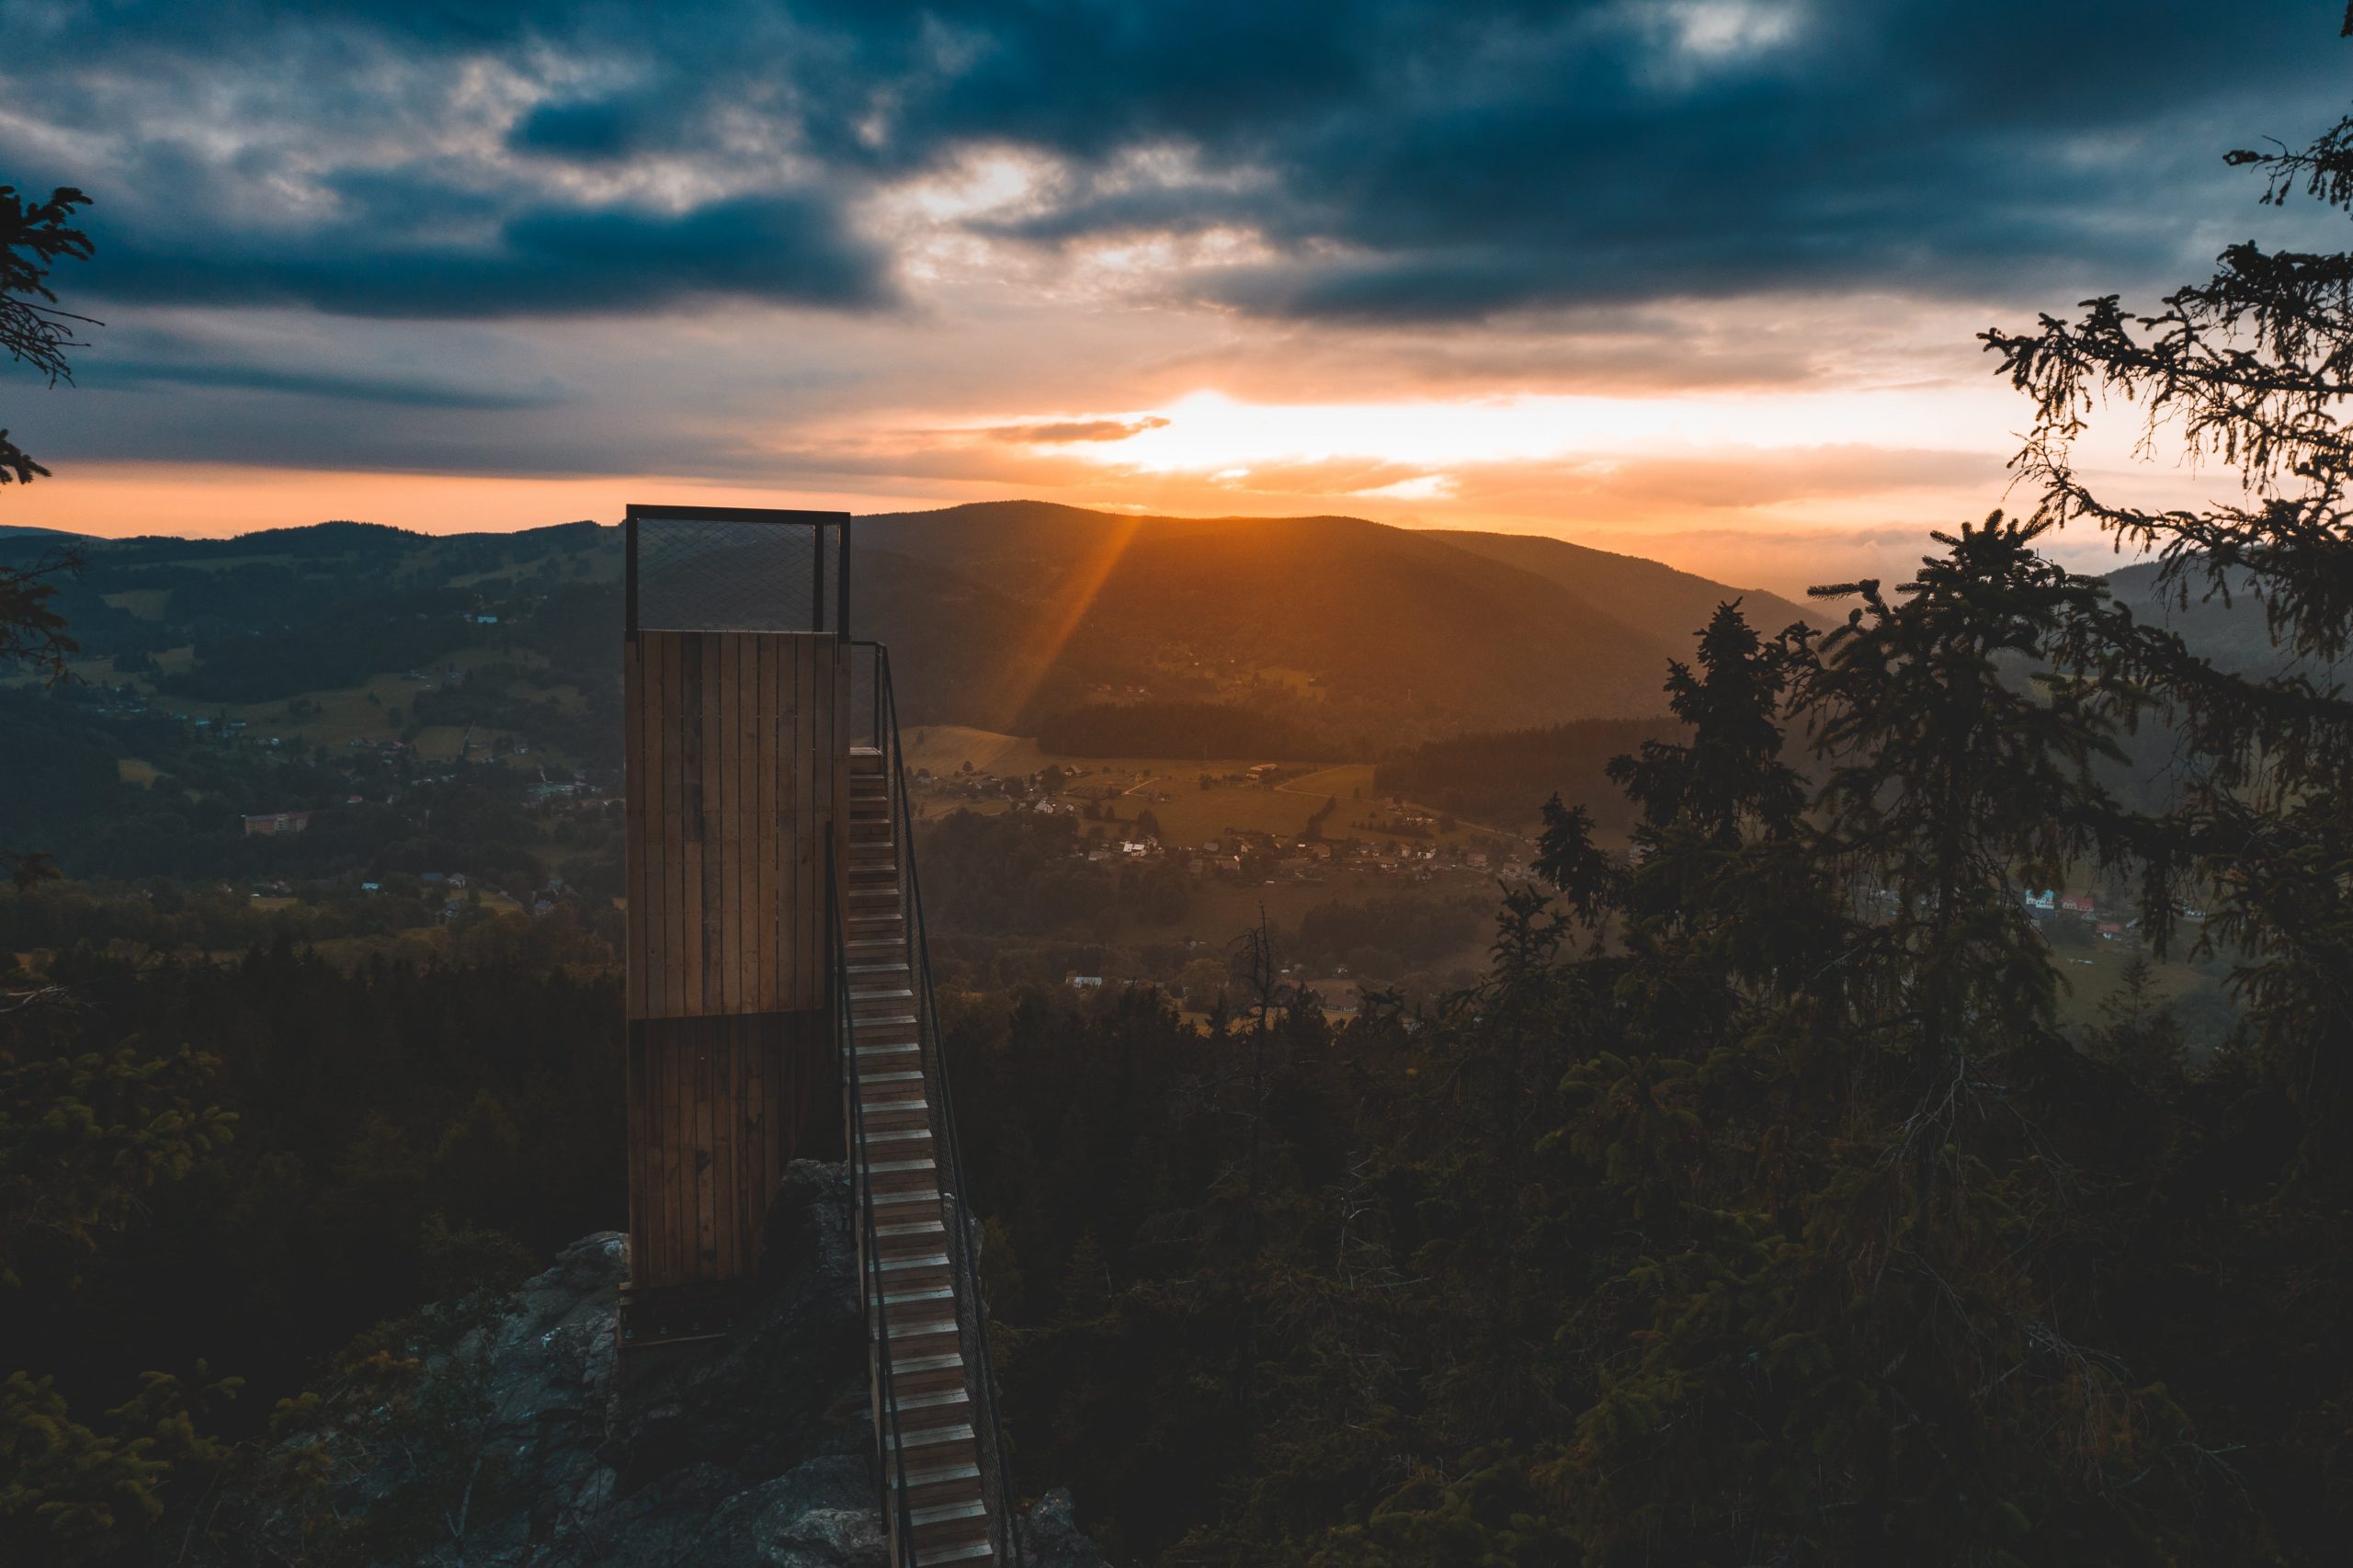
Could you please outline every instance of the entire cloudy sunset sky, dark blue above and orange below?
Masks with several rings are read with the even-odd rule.
[[[106,323],[0,372],[0,523],[1045,497],[1795,586],[2005,499],[1974,332],[2341,247],[2219,158],[2346,108],[2341,14],[0,0],[0,184],[96,198]]]

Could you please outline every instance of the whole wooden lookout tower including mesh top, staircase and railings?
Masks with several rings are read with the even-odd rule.
[[[1016,1559],[889,650],[849,518],[631,506],[621,1347],[722,1337],[793,1158],[847,1158],[892,1563]]]

